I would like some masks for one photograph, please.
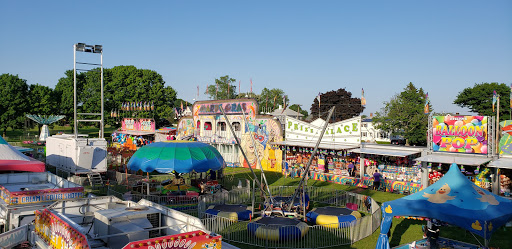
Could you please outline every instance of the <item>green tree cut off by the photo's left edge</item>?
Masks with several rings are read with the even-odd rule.
[[[17,75],[0,75],[0,129],[3,136],[7,128],[19,128],[25,120],[28,109],[27,81]]]

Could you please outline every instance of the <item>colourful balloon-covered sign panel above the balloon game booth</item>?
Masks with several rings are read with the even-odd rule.
[[[486,116],[433,116],[433,151],[487,154]]]

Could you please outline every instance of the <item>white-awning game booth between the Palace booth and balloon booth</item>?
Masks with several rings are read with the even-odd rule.
[[[364,176],[354,179],[353,185],[373,186],[373,174],[376,170],[382,175],[381,189],[387,192],[410,194],[418,192],[425,183],[419,164],[414,159],[425,153],[426,147],[396,146],[387,144],[366,144],[349,152],[355,153],[362,161]]]

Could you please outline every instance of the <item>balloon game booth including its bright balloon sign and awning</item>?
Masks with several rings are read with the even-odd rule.
[[[491,190],[491,176],[497,175],[487,164],[497,151],[493,124],[487,116],[430,116],[427,153],[415,159],[429,172],[425,180],[435,183],[456,163],[470,181]]]

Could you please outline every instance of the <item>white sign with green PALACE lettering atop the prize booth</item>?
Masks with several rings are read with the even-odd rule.
[[[322,121],[322,120],[320,120]],[[316,121],[315,121],[316,122]],[[286,117],[285,133],[286,141],[316,142],[322,131],[323,122],[315,125],[296,118]],[[361,117],[342,120],[328,124],[322,143],[332,144],[359,144],[361,143]]]

